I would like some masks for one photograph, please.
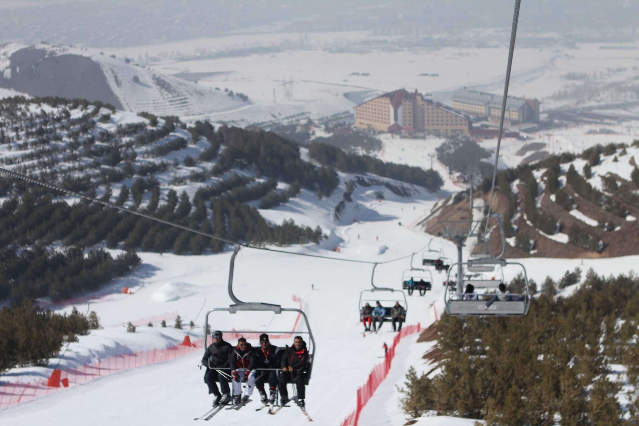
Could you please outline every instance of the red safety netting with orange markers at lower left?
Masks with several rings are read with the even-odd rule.
[[[57,392],[59,388],[67,388],[76,384],[86,383],[96,377],[108,376],[117,371],[143,367],[173,360],[180,356],[201,351],[204,339],[190,343],[185,339],[183,344],[167,347],[166,349],[150,349],[148,351],[138,351],[117,356],[109,356],[104,360],[95,363],[84,364],[81,367],[70,367],[64,370],[56,369],[49,379],[40,379],[29,383],[5,383],[0,385],[0,409],[20,402],[24,402],[51,392]]]

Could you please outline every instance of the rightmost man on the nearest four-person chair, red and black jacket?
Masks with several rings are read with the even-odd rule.
[[[306,349],[306,343],[301,336],[295,336],[293,346],[286,349],[282,355],[282,372],[278,379],[282,406],[289,401],[286,383],[291,381],[297,388],[297,404],[304,408],[304,381],[308,363],[309,351]]]

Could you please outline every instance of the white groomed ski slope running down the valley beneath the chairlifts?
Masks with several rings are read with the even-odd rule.
[[[378,213],[377,220],[362,220],[359,224],[336,227],[336,234],[347,237],[341,245],[341,252],[318,250],[314,246],[287,250],[369,261],[394,259],[423,247],[429,240],[429,236],[422,232],[407,229],[405,225],[399,226],[398,221],[402,224],[414,222],[415,218],[423,217],[424,209],[428,211],[435,202],[436,197],[422,202],[371,201],[367,207]],[[449,257],[454,254],[454,247],[448,241],[435,240],[433,245],[442,246]],[[164,254],[162,257],[141,253],[144,262],[141,270],[132,277],[114,283],[114,294],[104,300],[94,301],[91,309],[95,309],[107,325],[174,310],[185,321],[194,319],[201,325],[203,314],[196,316],[205,299],[206,308],[227,307],[231,303],[226,293],[230,256],[229,251],[219,255]],[[592,266],[598,273],[607,275],[630,270],[637,259],[585,260],[581,267]],[[417,266],[417,256],[415,260]],[[581,264],[580,259],[524,259],[523,262],[528,267],[530,277],[537,282],[541,282],[546,275],[559,278],[567,269]],[[401,273],[406,268],[409,268],[408,260],[381,265],[376,269],[375,283],[397,289]],[[385,324],[377,335],[362,337],[363,327],[358,323],[357,301],[360,291],[370,288],[371,269],[371,265],[367,264],[247,249],[242,249],[236,259],[235,294],[240,300],[297,307],[297,303],[291,300],[292,294],[296,294],[304,301],[303,308],[309,316],[317,343],[313,377],[307,388],[307,408],[316,424],[339,424],[354,409],[357,386],[366,381],[373,365],[380,361],[378,356],[383,355],[382,344],[390,344],[394,337],[392,333],[387,333],[390,324]],[[443,275],[434,275],[432,292],[424,297],[409,297],[408,323],[421,322],[424,326],[431,323],[434,320],[433,302],[441,313]],[[512,278],[508,271],[506,275],[507,280]],[[180,297],[177,299],[158,301],[160,298],[157,295],[166,293],[167,284],[178,282],[192,287],[189,287],[189,292],[178,294]],[[115,294],[124,285],[130,287],[134,294]],[[311,285],[314,285],[314,290]],[[376,297],[382,299],[389,296],[390,293],[385,296],[380,293]],[[280,317],[265,313],[215,315],[219,319],[212,323],[212,327],[222,330],[251,328],[286,331],[295,322],[293,314],[282,314]],[[304,331],[304,328],[298,331]],[[394,392],[394,384],[403,384],[408,365],[415,365],[418,370],[427,368],[420,365],[420,355],[427,346],[416,344],[415,340],[415,337],[409,337],[398,346],[393,369],[378,391],[380,393],[364,409],[360,425],[401,424],[404,415],[397,406],[399,394]],[[273,340],[273,344],[291,344],[291,341]],[[202,415],[211,402],[211,397],[206,395],[203,370],[197,369],[200,358],[201,353],[194,353],[175,361],[128,370],[75,388],[63,389],[1,411],[0,422],[3,425],[22,425],[48,418],[50,424],[65,425],[86,425],[89,422],[94,425],[189,423],[193,421],[192,418]],[[254,409],[257,407],[255,402],[244,407],[240,413],[222,411],[211,421],[225,425],[307,422],[296,407],[284,409],[274,418],[263,412],[256,413]],[[472,424],[472,421],[468,422],[468,425]]]

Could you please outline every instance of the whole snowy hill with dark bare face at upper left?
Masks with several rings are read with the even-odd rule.
[[[68,86],[70,79],[73,84]],[[63,45],[0,46],[0,87],[34,96],[100,100],[161,116],[213,114],[250,105],[213,88],[134,66],[126,57]]]

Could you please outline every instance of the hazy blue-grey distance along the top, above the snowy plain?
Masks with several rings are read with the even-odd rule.
[[[15,7],[16,4],[37,4]],[[514,0],[0,0],[0,41],[121,47],[228,33],[511,26]],[[12,8],[6,8],[12,6]],[[523,0],[522,32],[631,33],[639,0]]]

